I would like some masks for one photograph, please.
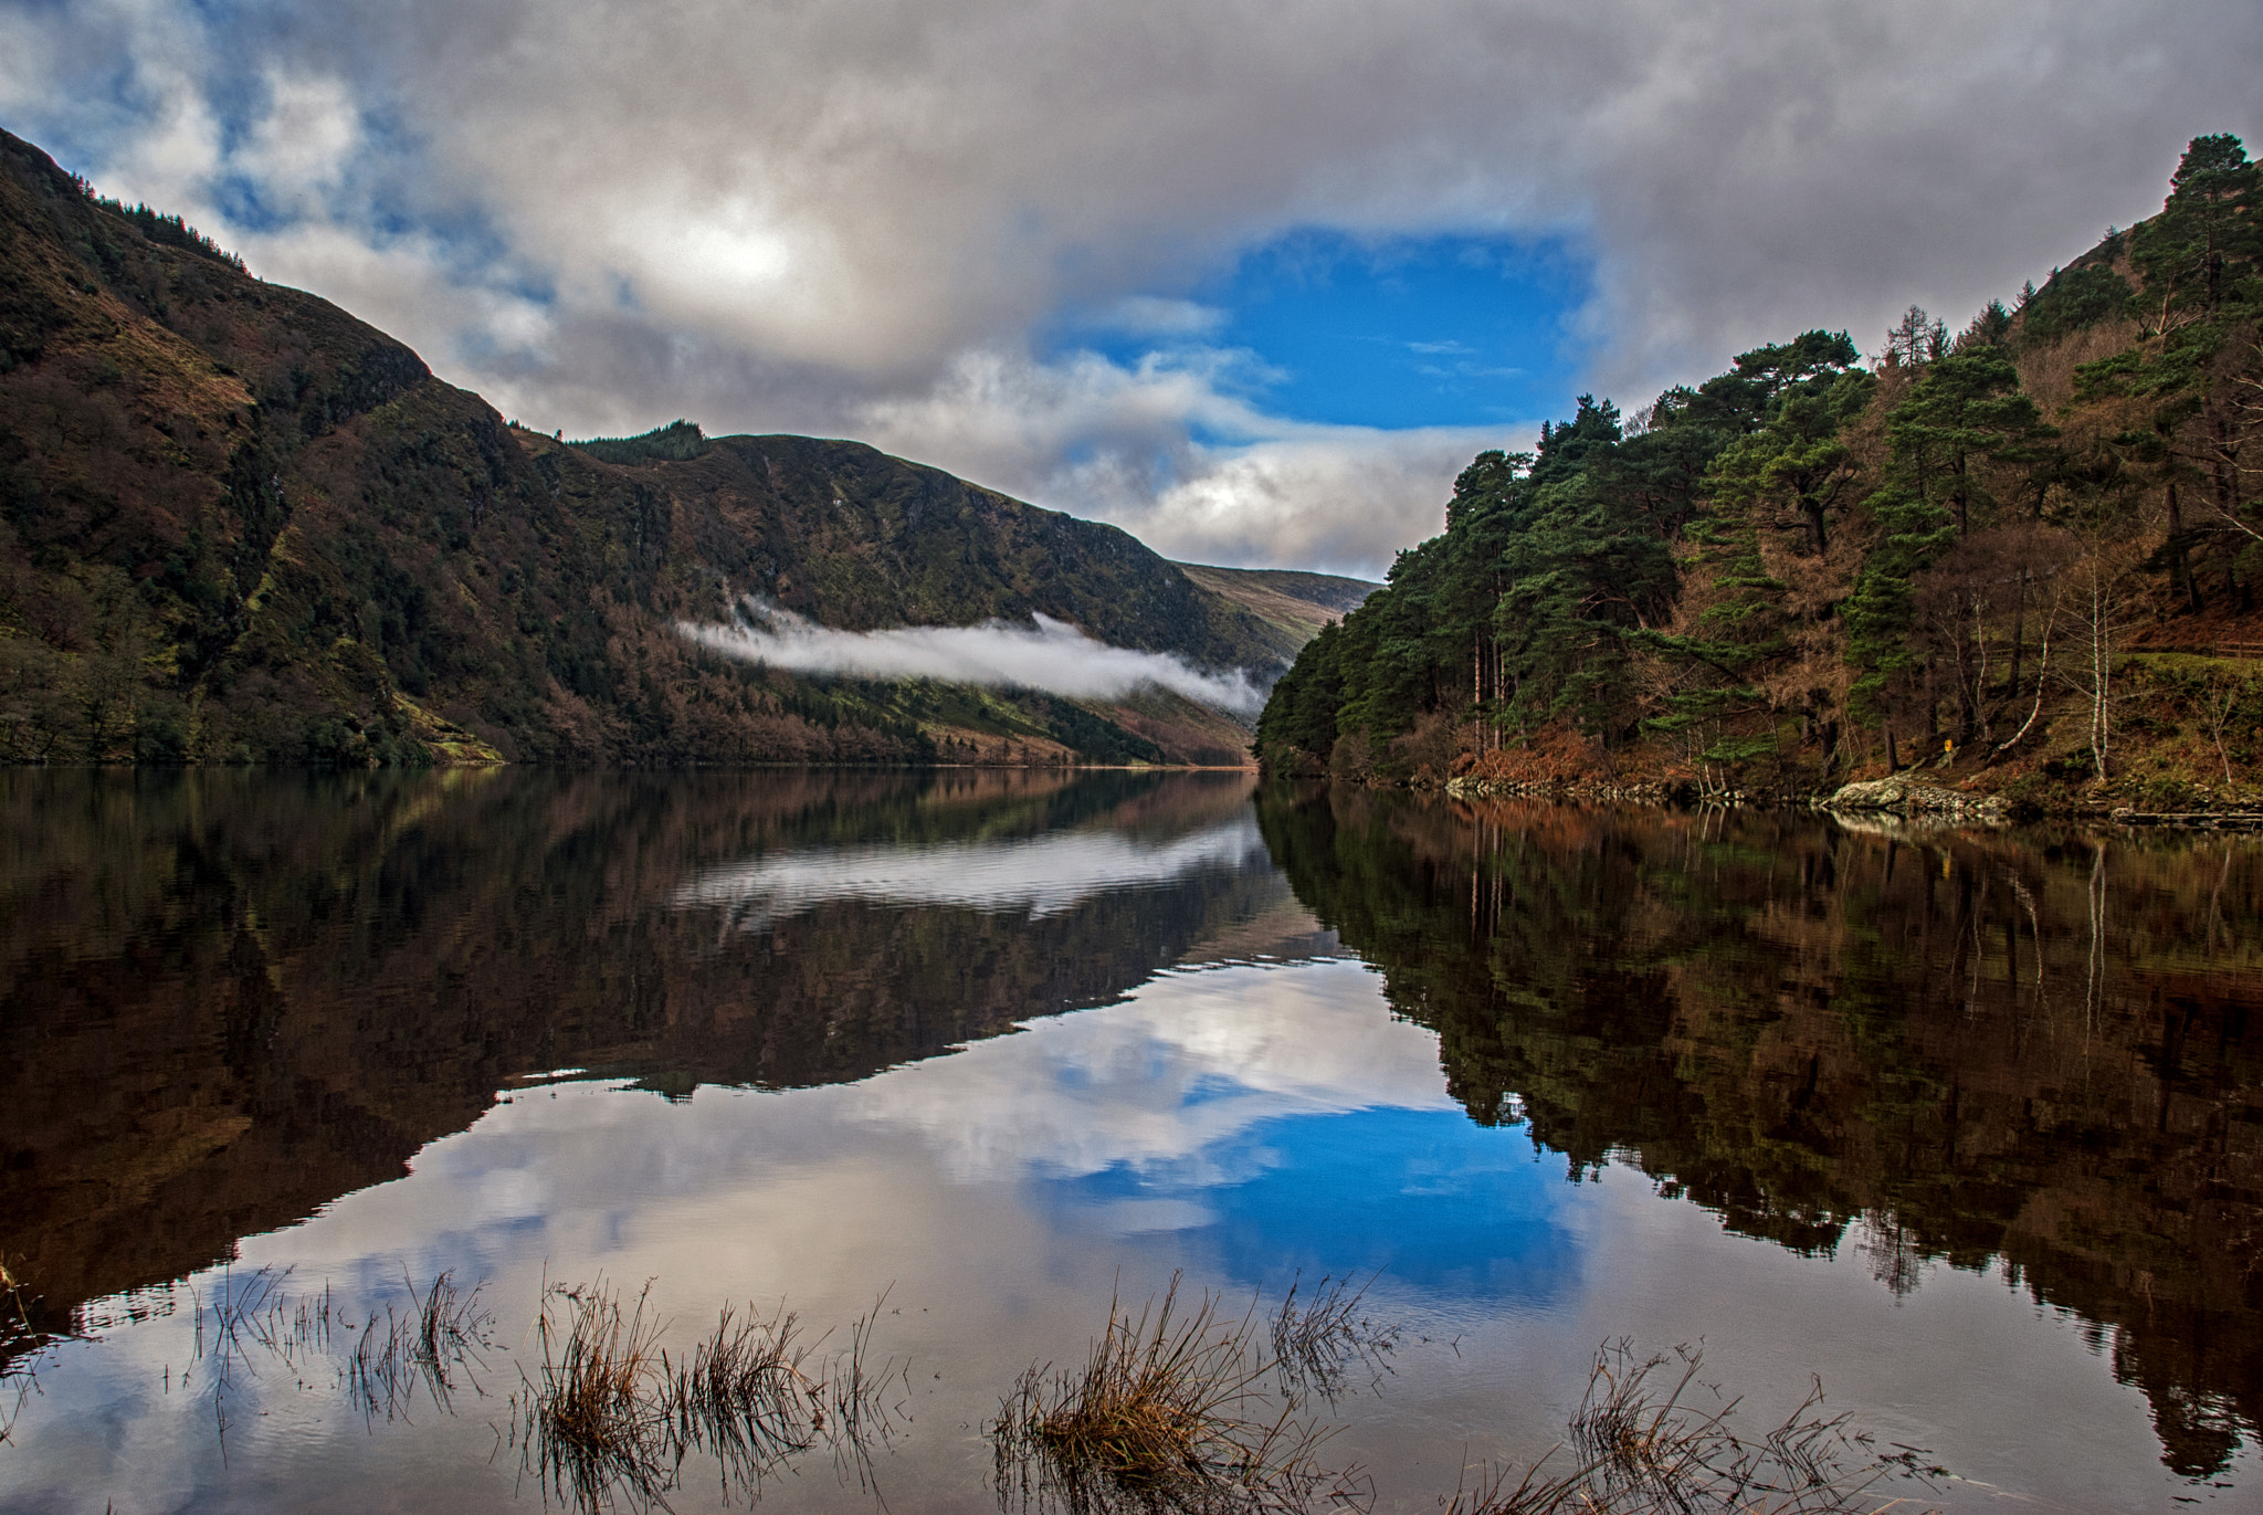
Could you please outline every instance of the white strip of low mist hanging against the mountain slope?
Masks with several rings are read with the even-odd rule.
[[[742,607],[731,625],[679,620],[677,630],[702,648],[788,673],[1036,688],[1070,700],[1122,700],[1154,686],[1236,716],[1254,716],[1265,704],[1265,693],[1240,668],[1202,673],[1172,652],[1111,648],[1043,614],[1034,616],[1036,625],[984,620],[835,632],[758,596],[747,596]]]

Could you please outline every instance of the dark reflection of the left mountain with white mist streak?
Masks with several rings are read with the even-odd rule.
[[[532,1071],[837,1082],[1109,1003],[1206,940],[1326,951],[1247,856],[1245,795],[1231,774],[0,772],[0,1261],[63,1329],[398,1178]],[[717,940],[715,881],[821,879],[828,845],[855,858],[833,885]],[[1012,899],[969,856],[1043,870]],[[1102,888],[1111,865],[1145,888]]]

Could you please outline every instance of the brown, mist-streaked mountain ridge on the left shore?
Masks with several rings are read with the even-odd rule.
[[[1048,616],[1265,686],[1365,589],[1195,577],[855,442],[523,430],[7,134],[0,267],[0,759],[1242,763],[1247,718],[1165,688],[794,677],[679,627]]]

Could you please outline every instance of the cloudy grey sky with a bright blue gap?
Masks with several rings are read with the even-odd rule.
[[[541,430],[1380,575],[1580,392],[2041,281],[2258,59],[2254,0],[0,0],[0,127]]]

